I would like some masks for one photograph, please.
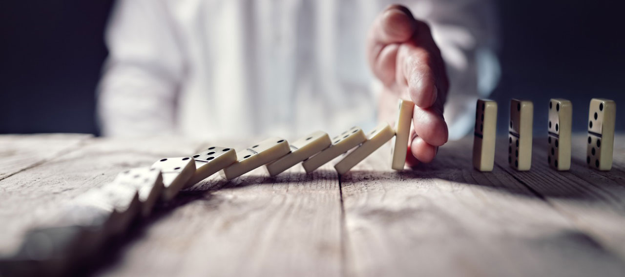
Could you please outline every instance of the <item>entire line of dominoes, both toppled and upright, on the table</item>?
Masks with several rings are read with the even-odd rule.
[[[272,137],[241,152],[211,146],[192,157],[163,158],[151,167],[119,173],[113,182],[75,198],[54,223],[27,232],[21,249],[0,263],[0,275],[61,275],[97,253],[110,238],[124,233],[137,217],[149,216],[159,200],[167,202],[184,188],[219,172],[226,180],[255,168],[266,167],[275,176],[297,163],[310,173],[345,153],[334,165],[344,174],[394,138],[391,168],[402,170],[406,159],[414,103],[399,100],[396,126],[380,124],[366,135],[352,127],[333,139],[321,131],[288,143]],[[571,102],[549,101],[549,165],[568,170],[571,164]],[[592,99],[588,127],[589,165],[609,170],[612,163],[616,104]],[[529,170],[532,147],[532,102],[511,100],[508,162],[517,170]],[[494,163],[497,103],[477,100],[473,165],[491,171]]]

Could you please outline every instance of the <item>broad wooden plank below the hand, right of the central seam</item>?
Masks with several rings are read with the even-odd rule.
[[[348,275],[622,276],[618,256],[512,175],[473,170],[471,142],[407,172],[379,150],[341,177]]]

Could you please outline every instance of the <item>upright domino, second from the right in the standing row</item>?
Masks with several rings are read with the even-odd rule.
[[[566,99],[549,100],[549,122],[547,124],[547,162],[556,170],[571,168],[571,123],[573,105]]]

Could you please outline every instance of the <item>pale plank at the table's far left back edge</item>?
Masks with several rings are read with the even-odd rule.
[[[79,147],[88,134],[0,135],[0,180]]]

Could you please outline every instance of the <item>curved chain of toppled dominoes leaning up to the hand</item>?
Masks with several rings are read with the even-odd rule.
[[[352,127],[332,139],[321,131],[290,144],[272,137],[241,152],[211,146],[192,157],[162,158],[151,167],[125,170],[108,185],[68,203],[53,223],[28,231],[16,255],[0,261],[0,276],[61,275],[124,233],[136,217],[149,216],[159,199],[169,201],[217,172],[231,180],[264,165],[275,176],[301,162],[310,173],[343,154],[334,168],[344,174],[391,138],[391,167],[402,170],[413,109],[411,101],[399,100],[395,128],[380,124],[368,135]]]

